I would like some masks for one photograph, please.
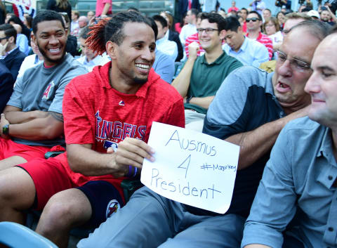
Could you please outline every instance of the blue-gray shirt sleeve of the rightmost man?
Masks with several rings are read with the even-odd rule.
[[[272,148],[258,192],[247,218],[242,247],[265,244],[281,248],[282,232],[296,214],[296,192],[293,184],[291,133],[283,129]]]

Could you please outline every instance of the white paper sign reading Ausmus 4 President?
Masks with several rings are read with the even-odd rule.
[[[154,162],[144,159],[140,181],[159,195],[225,214],[230,207],[239,146],[218,138],[153,122]]]

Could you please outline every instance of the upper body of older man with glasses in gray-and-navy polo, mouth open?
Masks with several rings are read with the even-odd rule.
[[[328,29],[319,21],[301,22],[293,27],[280,48],[285,58],[277,60],[275,73],[248,66],[235,70],[209,107],[203,132],[240,145],[227,214],[242,217],[242,229],[237,230],[241,235],[279,132],[292,119],[308,113],[310,96],[304,87],[312,74],[312,55],[327,33]]]

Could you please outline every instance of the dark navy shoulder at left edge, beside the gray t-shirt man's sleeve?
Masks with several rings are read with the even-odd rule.
[[[0,113],[6,107],[13,92],[14,79],[5,65],[0,63]]]

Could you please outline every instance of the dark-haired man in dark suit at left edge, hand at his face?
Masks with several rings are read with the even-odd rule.
[[[16,30],[10,24],[0,25],[0,62],[11,71],[14,81],[18,76],[25,53],[16,46]]]

